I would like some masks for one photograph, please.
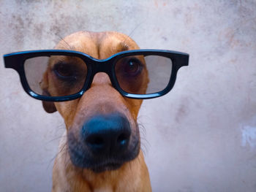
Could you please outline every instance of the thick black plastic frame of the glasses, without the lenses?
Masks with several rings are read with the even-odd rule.
[[[88,74],[86,77],[86,82],[83,85],[83,88],[75,94],[69,96],[42,96],[34,91],[31,91],[29,84],[26,80],[25,71],[24,71],[24,63],[28,58],[34,58],[39,56],[50,56],[50,55],[67,55],[67,56],[75,56],[81,58],[87,65]],[[132,55],[160,55],[170,58],[173,62],[172,65],[172,73],[170,75],[170,80],[168,82],[167,87],[159,91],[157,93],[148,93],[148,94],[133,94],[127,93],[123,91],[120,86],[118,85],[118,81],[116,80],[115,74],[115,65],[118,59],[124,56],[132,56]],[[80,96],[83,95],[85,91],[87,91],[91,85],[91,82],[94,78],[94,75],[98,72],[105,72],[110,77],[110,81],[116,90],[121,93],[122,96],[126,96],[131,99],[151,99],[156,98],[159,96],[163,96],[168,93],[172,88],[176,81],[176,75],[178,69],[181,66],[188,66],[189,65],[189,55],[187,53],[181,53],[177,51],[171,50],[127,50],[120,53],[116,53],[109,58],[99,60],[97,58],[93,58],[86,53],[81,53],[75,50],[29,50],[29,51],[22,51],[16,53],[10,53],[4,55],[4,66],[6,68],[15,69],[19,76],[20,82],[23,86],[24,91],[32,96],[34,99],[44,100],[44,101],[70,101],[73,99],[78,99]],[[88,78],[89,77],[89,78]]]

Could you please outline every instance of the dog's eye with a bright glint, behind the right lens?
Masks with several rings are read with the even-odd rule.
[[[129,76],[136,76],[140,74],[142,69],[143,65],[137,58],[127,59],[127,61],[124,61],[123,63],[124,74],[127,74]]]

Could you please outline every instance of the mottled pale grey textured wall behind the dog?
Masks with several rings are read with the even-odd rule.
[[[173,90],[144,101],[154,191],[256,191],[256,2],[0,0],[0,55],[52,48],[80,30],[190,54]],[[64,123],[0,60],[1,191],[50,191]]]

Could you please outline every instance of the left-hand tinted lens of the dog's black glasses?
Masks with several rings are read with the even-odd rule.
[[[31,90],[45,96],[78,93],[87,76],[87,66],[82,59],[65,55],[29,58],[24,70]]]

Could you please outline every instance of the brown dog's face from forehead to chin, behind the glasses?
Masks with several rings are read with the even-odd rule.
[[[139,49],[138,45],[124,34],[116,32],[78,32],[65,37],[56,49],[77,50],[94,58],[105,59],[123,50]],[[69,58],[70,59],[70,58]],[[143,58],[138,58],[143,63]],[[68,58],[61,58],[70,63]],[[74,60],[81,79],[86,68],[79,60]],[[48,70],[42,80],[45,93],[54,96],[64,91],[72,91],[77,85],[65,88],[53,74],[56,58],[50,58]],[[69,73],[65,70],[62,73]],[[146,93],[148,77],[146,69],[135,84],[127,87]],[[134,86],[132,86],[134,85]],[[99,72],[94,76],[91,88],[80,99],[65,102],[46,102],[47,112],[58,110],[67,127],[67,145],[72,164],[94,172],[118,169],[140,152],[140,134],[137,116],[142,101],[127,99],[113,88],[108,74]]]

